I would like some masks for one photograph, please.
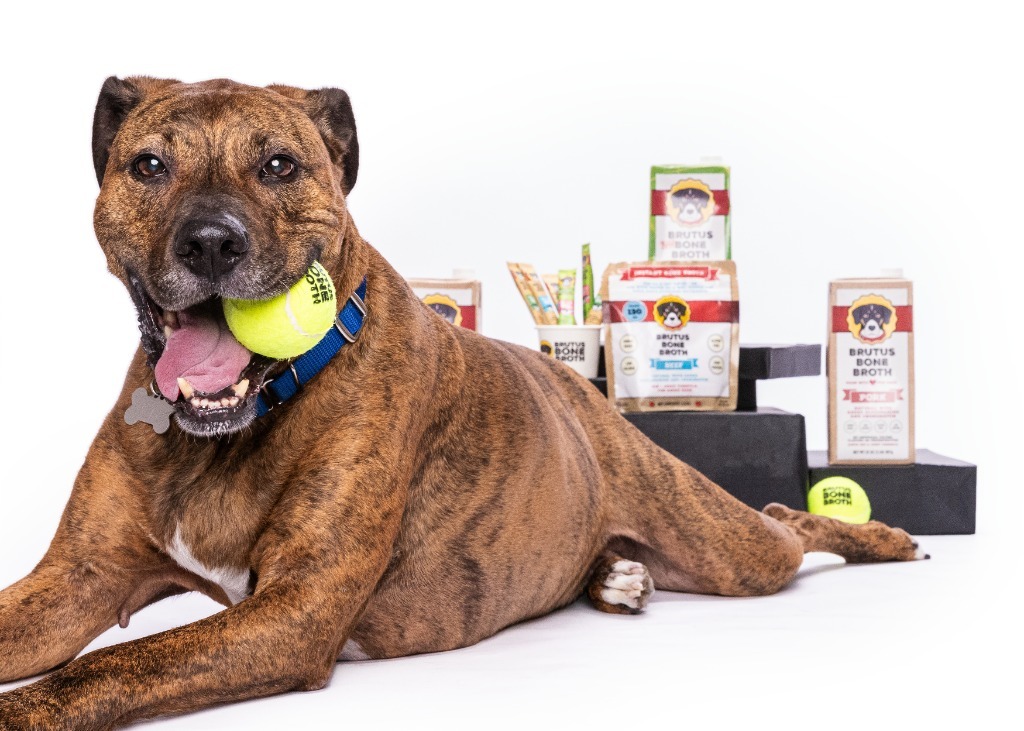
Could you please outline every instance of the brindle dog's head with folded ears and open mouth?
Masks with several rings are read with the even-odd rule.
[[[348,96],[111,78],[92,152],[96,236],[178,425],[204,436],[245,428],[275,363],[238,343],[221,298],[268,299],[312,261],[339,260],[358,168]]]

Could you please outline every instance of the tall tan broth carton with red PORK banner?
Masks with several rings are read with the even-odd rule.
[[[911,464],[913,292],[903,278],[830,285],[828,461]]]

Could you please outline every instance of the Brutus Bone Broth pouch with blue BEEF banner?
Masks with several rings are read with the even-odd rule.
[[[733,262],[612,264],[601,299],[608,398],[620,411],[735,411]]]

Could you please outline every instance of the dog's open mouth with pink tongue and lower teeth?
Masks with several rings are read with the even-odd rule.
[[[157,390],[174,404],[178,425],[198,435],[248,426],[256,397],[280,361],[253,353],[231,334],[220,297],[165,309],[130,277],[142,349]]]

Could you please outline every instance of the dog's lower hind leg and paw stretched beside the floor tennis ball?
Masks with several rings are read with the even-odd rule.
[[[877,520],[852,525],[794,510],[778,503],[767,506],[764,513],[792,530],[800,539],[805,552],[834,553],[849,563],[931,558],[919,549],[916,542],[904,530],[891,528]]]

